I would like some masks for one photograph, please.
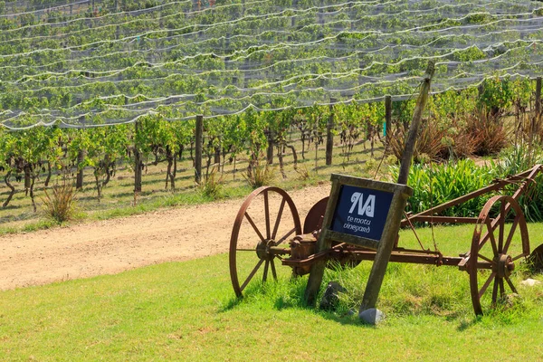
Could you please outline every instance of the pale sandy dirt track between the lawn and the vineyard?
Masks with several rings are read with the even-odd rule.
[[[329,185],[291,193],[301,223]],[[0,237],[0,290],[87,278],[227,252],[243,200]]]

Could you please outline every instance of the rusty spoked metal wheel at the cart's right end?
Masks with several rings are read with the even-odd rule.
[[[495,218],[492,211],[498,212]],[[505,298],[506,284],[517,292],[510,275],[515,262],[528,255],[528,228],[519,203],[511,196],[491,197],[479,214],[468,264],[475,314],[482,315],[483,307],[492,308],[499,298]],[[491,292],[487,293],[489,287]]]

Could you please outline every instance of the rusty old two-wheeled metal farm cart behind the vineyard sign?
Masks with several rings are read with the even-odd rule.
[[[510,275],[517,264],[530,255],[529,233],[519,197],[529,192],[541,169],[542,166],[537,165],[518,175],[496,179],[489,186],[422,213],[405,214],[401,221],[403,227],[417,223],[474,224],[471,244],[459,256],[445,256],[437,250],[424,249],[422,244],[421,249],[402,248],[396,238],[390,262],[449,265],[467,271],[473,310],[482,314],[483,309],[495,305],[510,291],[517,292]],[[505,189],[514,192],[500,195]],[[443,210],[483,195],[491,195],[491,198],[478,217],[440,215]],[[229,254],[233,290],[238,297],[243,296],[251,281],[261,278],[266,281],[270,272],[276,279],[276,261],[290,266],[294,275],[304,275],[310,272],[313,263],[322,260],[344,265],[375,260],[376,251],[349,243],[332,243],[328,250],[316,252],[328,201],[329,197],[325,197],[313,205],[301,224],[296,205],[279,187],[263,186],[244,200],[233,224]],[[253,258],[250,266],[240,262],[240,255],[247,252]],[[532,254],[539,262],[542,255],[543,245]]]

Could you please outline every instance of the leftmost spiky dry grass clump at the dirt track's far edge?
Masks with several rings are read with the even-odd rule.
[[[43,213],[54,223],[62,224],[73,220],[76,215],[77,191],[71,184],[52,186],[50,192],[43,188]]]

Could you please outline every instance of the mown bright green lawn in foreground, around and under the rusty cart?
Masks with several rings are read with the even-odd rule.
[[[532,249],[543,224],[530,224]],[[469,249],[472,226],[439,227],[443,252]],[[429,228],[419,231],[431,242]],[[536,236],[537,235],[537,236]],[[402,232],[400,243],[414,242]],[[430,246],[430,245],[428,245]],[[252,261],[246,261],[252,262]],[[348,292],[336,311],[303,306],[307,277],[250,284],[233,298],[226,254],[118,275],[0,292],[2,360],[522,360],[543,356],[543,287],[481,318],[468,275],[453,267],[390,264],[377,327],[356,313],[371,262],[328,270]],[[519,268],[517,283],[527,277]],[[543,281],[542,275],[534,276]]]

